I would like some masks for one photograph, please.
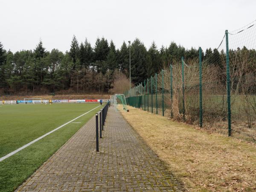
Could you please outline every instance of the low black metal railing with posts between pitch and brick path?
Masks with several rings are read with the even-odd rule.
[[[102,138],[104,131],[105,120],[108,113],[108,103],[95,114],[96,119],[96,152],[99,152],[99,138]]]

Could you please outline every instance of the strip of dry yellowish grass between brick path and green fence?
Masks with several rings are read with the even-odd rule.
[[[256,191],[256,145],[128,108],[124,118],[188,191]]]

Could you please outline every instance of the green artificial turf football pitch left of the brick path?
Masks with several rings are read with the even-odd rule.
[[[0,105],[0,157],[99,104]],[[100,107],[99,107],[100,108]],[[0,162],[0,192],[12,192],[84,125],[99,108]]]

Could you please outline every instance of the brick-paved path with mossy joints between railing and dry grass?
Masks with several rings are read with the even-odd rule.
[[[99,141],[97,153],[92,118],[17,191],[182,191],[157,155],[113,108]]]

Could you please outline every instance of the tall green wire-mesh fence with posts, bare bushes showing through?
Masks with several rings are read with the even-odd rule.
[[[226,30],[213,52],[172,61],[128,90],[128,105],[256,143],[255,29]]]

